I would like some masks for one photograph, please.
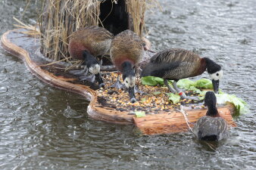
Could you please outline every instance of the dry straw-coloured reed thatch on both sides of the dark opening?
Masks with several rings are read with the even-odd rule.
[[[44,0],[39,28],[42,33],[41,52],[53,60],[68,56],[68,38],[76,29],[98,26],[100,5],[106,0]],[[118,3],[118,0],[111,0]],[[130,29],[142,36],[146,4],[158,4],[157,0],[126,0],[130,16]],[[111,12],[111,11],[110,11]],[[103,24],[101,24],[103,25]]]

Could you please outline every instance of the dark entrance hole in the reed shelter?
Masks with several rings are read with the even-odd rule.
[[[129,29],[129,15],[126,12],[125,0],[118,0],[117,4],[112,3],[111,0],[101,2],[100,11],[99,18],[103,27],[112,32],[114,36]],[[102,26],[102,24],[99,23],[99,26]]]

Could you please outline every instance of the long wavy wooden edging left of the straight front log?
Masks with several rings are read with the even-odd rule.
[[[127,116],[123,118],[121,116],[110,116],[95,108],[95,103],[97,102],[97,95],[94,90],[89,88],[86,85],[74,85],[70,82],[64,81],[64,79],[59,79],[57,76],[52,73],[48,73],[45,70],[42,70],[40,66],[38,66],[33,60],[30,58],[30,54],[28,51],[20,48],[14,43],[10,42],[8,39],[8,34],[10,32],[17,31],[18,29],[9,30],[5,32],[1,37],[2,47],[5,48],[10,54],[19,57],[26,64],[27,68],[30,70],[33,75],[42,80],[42,82],[47,83],[48,85],[52,85],[56,88],[61,88],[67,91],[74,92],[76,94],[83,95],[87,100],[90,100],[89,107],[87,112],[89,116],[93,119],[103,120],[105,122],[114,122],[117,124],[123,125],[133,125],[133,116]]]

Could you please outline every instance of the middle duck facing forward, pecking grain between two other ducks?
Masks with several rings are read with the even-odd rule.
[[[130,29],[117,34],[111,42],[110,55],[111,61],[117,70],[122,74],[124,85],[120,82],[118,74],[117,82],[111,85],[111,88],[128,88],[130,101],[136,102],[135,66],[144,55],[145,43],[142,39]]]

